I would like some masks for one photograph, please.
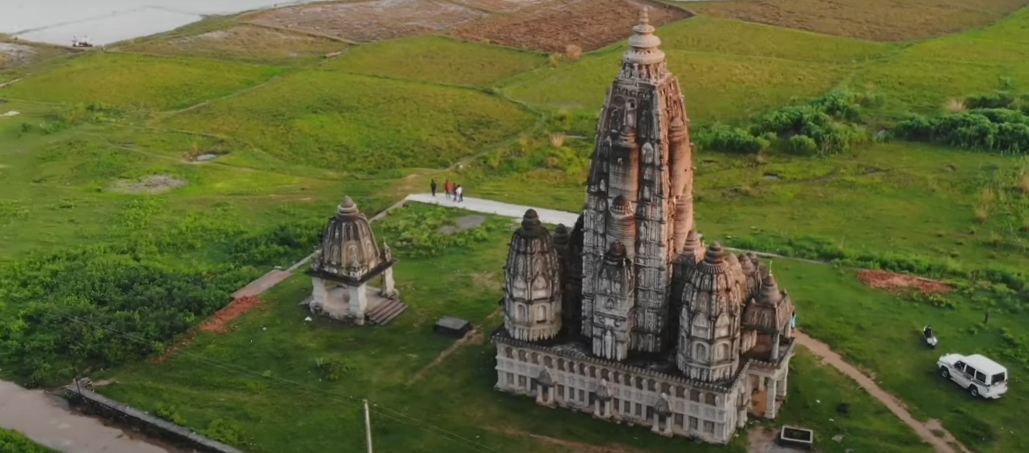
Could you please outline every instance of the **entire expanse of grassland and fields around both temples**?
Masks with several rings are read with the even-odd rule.
[[[605,4],[634,11],[620,1]],[[860,108],[874,140],[847,151],[696,152],[699,225],[728,246],[959,269],[948,275],[955,292],[930,297],[868,289],[849,267],[775,260],[801,328],[918,418],[941,420],[977,453],[1025,450],[1018,383],[1002,401],[970,401],[935,377],[938,354],[921,348],[918,330],[931,322],[944,346],[1027,372],[1020,351],[1029,340],[1017,329],[1026,295],[1013,281],[1029,265],[1029,160],[886,133],[912,112],[1029,91],[1029,9],[1000,20],[1021,5],[919,0],[858,10],[849,1],[826,10],[788,0],[775,13],[762,2],[691,2],[700,15],[677,22],[678,9],[651,11],[695,138],[830,90],[875,100]],[[0,84],[22,78],[0,87],[0,115],[17,112],[0,116],[0,271],[10,276],[0,281],[0,318],[12,319],[0,324],[0,377],[46,385],[104,368],[117,379],[105,393],[258,453],[359,449],[360,436],[326,435],[360,431],[350,398],[382,405],[372,408],[382,451],[478,448],[426,432],[426,423],[511,452],[681,450],[678,440],[494,392],[491,346],[481,340],[409,383],[451,345],[429,333],[438,316],[484,332],[500,322],[508,223],[491,218],[445,236],[435,228],[461,215],[446,210],[413,205],[376,226],[403,259],[397,279],[414,308],[388,328],[304,323],[295,303],[310,286],[294,276],[233,332],[201,333],[152,361],[232,291],[310,253],[344,196],[370,217],[427,191],[430,179],[450,179],[466,196],[579,211],[596,114],[636,22],[583,5],[324,3],[213,17],[106,51],[0,62]],[[419,9],[430,7],[436,15]],[[525,39],[511,32],[528,21]],[[926,39],[898,42],[916,38]],[[988,268],[1017,278],[1001,284]],[[120,281],[154,289],[133,293]],[[68,323],[75,317],[146,344],[104,337],[108,345],[91,334],[99,329]],[[814,427],[820,440],[843,435],[821,444],[826,452],[930,450],[806,351],[793,366],[801,372],[775,423]],[[849,416],[836,411],[841,402]],[[690,448],[743,452],[744,441]]]

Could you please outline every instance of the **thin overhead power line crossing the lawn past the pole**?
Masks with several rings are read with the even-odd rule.
[[[133,334],[133,333],[129,333],[129,332],[122,332],[122,331],[119,331],[117,329],[113,329],[113,328],[109,328],[109,327],[104,327],[104,326],[99,326],[99,325],[97,325],[95,323],[91,323],[90,320],[83,319],[82,317],[76,316],[74,314],[70,314],[70,313],[55,313],[55,314],[57,314],[59,317],[65,317],[68,320],[72,320],[72,322],[78,323],[80,325],[88,326],[91,328],[98,329],[98,330],[104,330],[106,332],[111,332],[111,333],[113,333],[113,334],[115,334],[117,336],[120,336],[120,337],[122,337],[125,339],[128,339],[130,341],[135,341],[135,342],[138,342],[140,344],[146,344],[146,345],[152,344],[152,342],[147,341],[146,339],[138,336],[138,334]],[[201,354],[198,354],[198,353],[186,352],[186,351],[179,351],[178,355],[184,355],[186,357],[189,357],[189,358],[192,358],[194,361],[204,363],[206,365],[210,365],[212,367],[221,368],[221,369],[223,369],[223,370],[225,370],[225,371],[227,371],[229,373],[235,373],[235,374],[238,374],[238,375],[248,375],[248,376],[251,376],[251,377],[262,378],[262,379],[270,379],[270,380],[278,381],[280,383],[293,385],[293,386],[299,387],[301,390],[307,391],[308,393],[311,393],[311,394],[314,394],[314,395],[318,395],[318,397],[327,397],[327,398],[329,398],[330,400],[332,400],[332,401],[334,401],[336,403],[354,404],[354,405],[356,405],[358,407],[361,407],[364,404],[364,400],[358,399],[356,397],[342,394],[342,393],[336,393],[336,392],[333,392],[333,391],[328,391],[328,390],[325,390],[325,389],[322,389],[322,388],[318,388],[316,386],[313,386],[311,384],[307,384],[307,383],[304,383],[304,382],[293,381],[293,380],[290,380],[290,379],[285,379],[285,378],[281,378],[281,377],[277,377],[277,376],[264,375],[263,373],[258,373],[256,371],[247,369],[245,367],[241,367],[241,366],[234,365],[234,364],[228,364],[228,363],[222,363],[222,362],[214,361],[214,360],[205,357],[205,356],[203,356]],[[346,400],[341,400],[341,399],[346,399]],[[443,429],[443,428],[441,428],[439,426],[436,426],[436,425],[433,425],[431,423],[427,423],[427,422],[421,421],[421,420],[416,419],[414,417],[411,417],[411,416],[409,416],[406,414],[403,414],[402,412],[399,412],[397,410],[387,408],[387,407],[385,407],[383,405],[372,404],[372,407],[375,407],[378,410],[377,413],[379,415],[385,416],[386,418],[392,419],[392,420],[394,420],[394,421],[396,421],[398,423],[402,423],[402,424],[406,424],[406,425],[410,425],[410,426],[414,426],[414,427],[417,427],[417,428],[422,429],[422,430],[424,430],[426,432],[429,432],[429,433],[434,433],[436,436],[439,436],[439,437],[441,437],[441,438],[443,438],[443,439],[446,439],[448,441],[454,442],[456,444],[464,444],[464,447],[469,448],[469,449],[471,449],[473,451],[476,451],[476,452],[480,452],[480,453],[505,453],[503,450],[499,450],[499,449],[490,447],[488,445],[481,444],[481,443],[475,442],[473,440],[464,438],[464,437],[462,437],[462,436],[460,436],[460,435],[458,435],[456,432]]]

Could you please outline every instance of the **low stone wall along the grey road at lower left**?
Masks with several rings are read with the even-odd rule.
[[[244,453],[242,450],[205,438],[170,421],[147,414],[93,391],[88,379],[65,387],[65,399],[85,412],[125,423],[177,446],[201,453]]]

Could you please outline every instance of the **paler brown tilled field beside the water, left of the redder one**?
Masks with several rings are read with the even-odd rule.
[[[491,2],[500,3],[500,0]],[[351,41],[374,42],[432,33],[485,17],[487,14],[482,10],[441,0],[374,0],[290,6],[258,12],[245,17],[245,21]]]

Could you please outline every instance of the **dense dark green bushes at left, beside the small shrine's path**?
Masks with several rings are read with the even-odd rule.
[[[27,384],[54,384],[162,352],[261,268],[298,259],[317,241],[310,225],[246,232],[217,217],[189,217],[161,227],[152,224],[159,209],[152,201],[131,207],[120,242],[0,268],[4,372]],[[183,260],[216,251],[227,259]]]

